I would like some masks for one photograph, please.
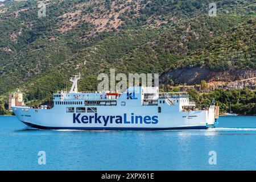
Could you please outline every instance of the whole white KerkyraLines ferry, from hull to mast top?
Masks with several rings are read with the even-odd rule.
[[[218,106],[199,109],[187,92],[161,93],[158,87],[131,86],[123,93],[78,92],[80,76],[69,92],[53,94],[53,107],[14,106],[19,121],[52,130],[187,130],[217,125]]]

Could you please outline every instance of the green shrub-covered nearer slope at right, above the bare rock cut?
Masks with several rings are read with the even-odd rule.
[[[256,18],[226,31],[180,63],[191,67],[206,64],[214,71],[246,67],[256,69],[255,34]]]

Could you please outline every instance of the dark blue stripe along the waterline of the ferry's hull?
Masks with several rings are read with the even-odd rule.
[[[23,122],[23,121],[22,121]],[[185,126],[185,127],[48,127],[48,126],[40,126],[34,125],[32,123],[23,122],[27,126],[34,127],[36,129],[43,130],[201,130],[207,129],[207,126]]]

